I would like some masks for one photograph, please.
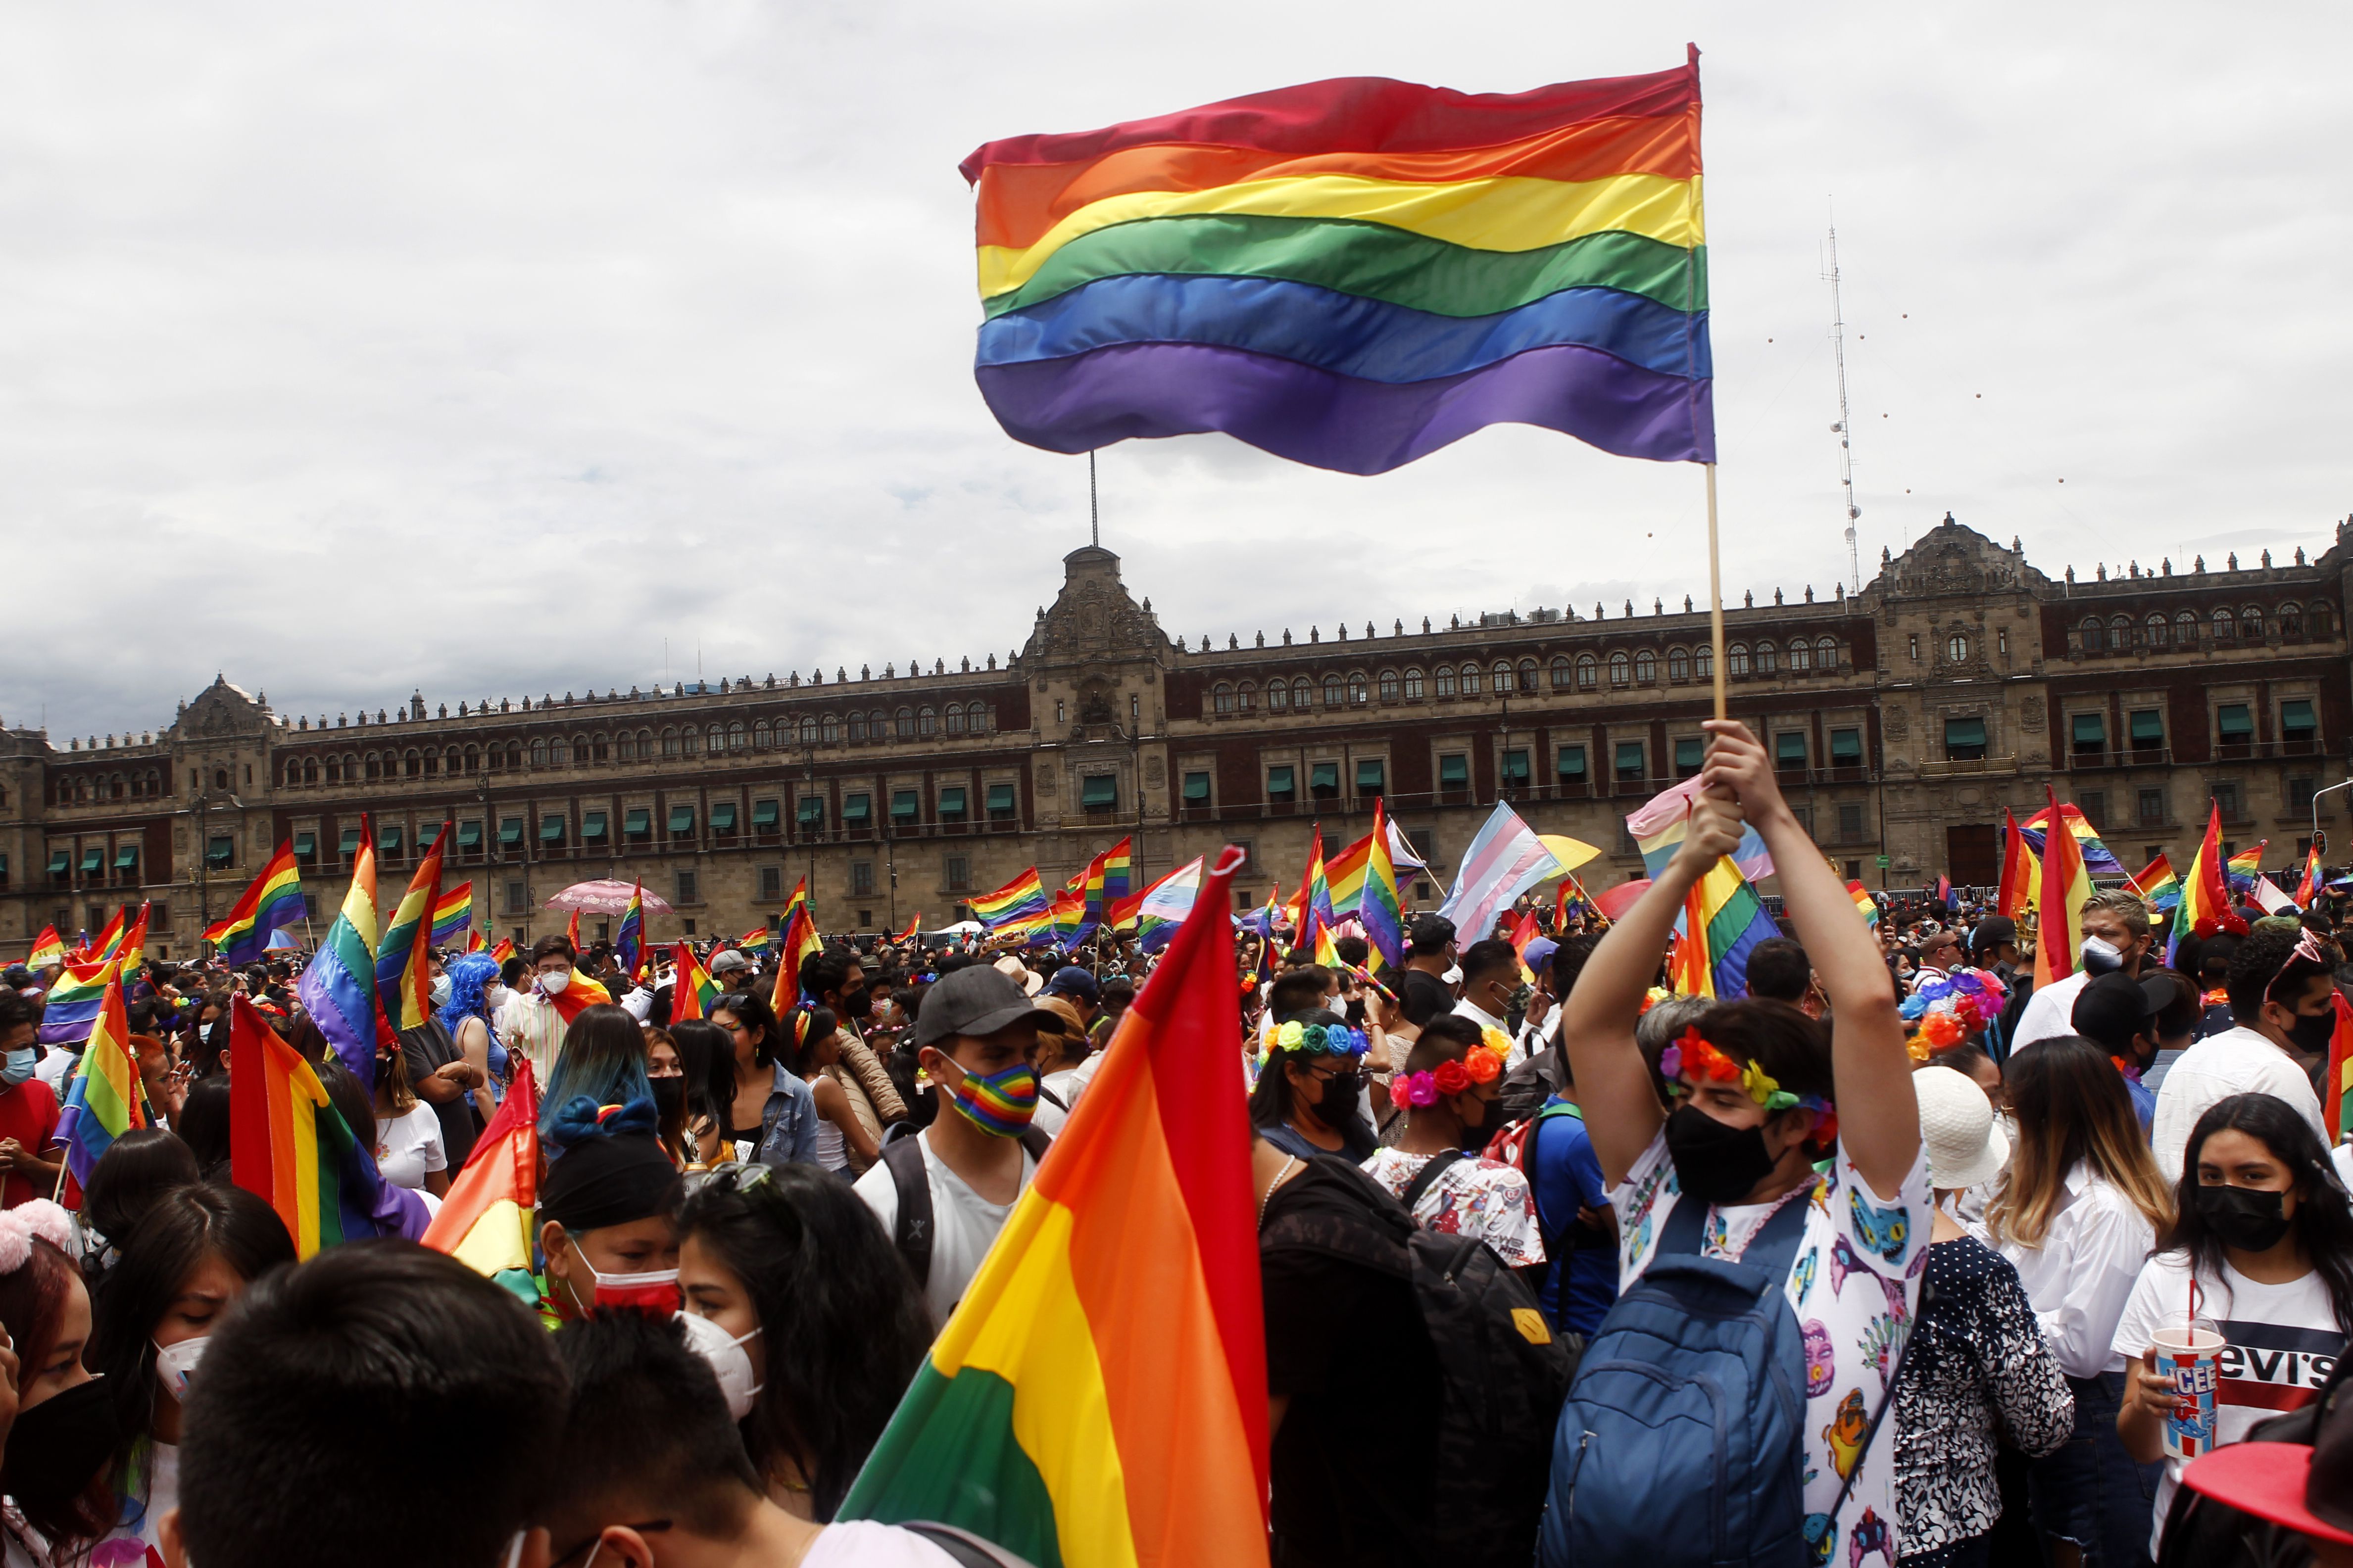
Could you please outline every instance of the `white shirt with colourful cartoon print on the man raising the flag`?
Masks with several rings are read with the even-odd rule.
[[[1657,1133],[1626,1180],[1609,1190],[1619,1220],[1619,1288],[1633,1284],[1657,1255],[1666,1218],[1682,1201],[1666,1133]],[[1708,1258],[1739,1260],[1765,1220],[1781,1204],[1807,1204],[1805,1234],[1788,1272],[1788,1305],[1805,1335],[1805,1512],[1809,1526],[1838,1500],[1854,1469],[1871,1415],[1894,1396],[1897,1356],[1920,1309],[1920,1274],[1927,1267],[1929,1187],[1927,1150],[1913,1159],[1894,1204],[1880,1204],[1845,1150],[1831,1175],[1812,1192],[1798,1187],[1774,1204],[1718,1204],[1701,1227]],[[1897,1533],[1894,1422],[1880,1422],[1864,1472],[1840,1519],[1831,1521],[1817,1561],[1849,1561],[1849,1540],[1861,1533],[1866,1552],[1904,1556]]]

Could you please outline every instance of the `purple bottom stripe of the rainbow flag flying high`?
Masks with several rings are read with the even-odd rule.
[[[1374,475],[1485,425],[1522,423],[1628,458],[1715,461],[1713,381],[1579,343],[1402,386],[1207,343],[1122,343],[974,376],[1005,433],[1047,451],[1224,430],[1294,463]]]

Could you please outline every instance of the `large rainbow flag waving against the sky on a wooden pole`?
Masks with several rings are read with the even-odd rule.
[[[1308,82],[962,174],[1014,440],[1224,430],[1372,475],[1511,421],[1715,461],[1697,49],[1513,96]]]

